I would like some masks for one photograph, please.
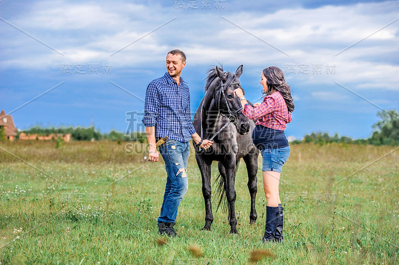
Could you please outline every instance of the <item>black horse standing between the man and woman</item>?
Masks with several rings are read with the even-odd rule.
[[[218,193],[219,204],[227,199],[228,220],[230,233],[237,233],[237,219],[235,218],[235,174],[239,160],[243,158],[248,172],[248,189],[251,196],[250,223],[256,222],[255,196],[256,173],[258,170],[259,150],[252,144],[254,122],[246,118],[241,110],[240,99],[234,96],[234,89],[241,88],[238,78],[242,74],[240,65],[235,74],[223,72],[217,66],[209,69],[206,77],[205,96],[194,115],[194,127],[203,139],[212,137],[214,143],[204,151],[195,143],[196,160],[202,177],[202,195],[205,201],[205,226],[203,230],[210,230],[213,222],[211,206],[210,165],[218,161]],[[242,89],[242,88],[241,88]],[[216,135],[215,135],[216,134]],[[225,197],[224,197],[225,195]]]

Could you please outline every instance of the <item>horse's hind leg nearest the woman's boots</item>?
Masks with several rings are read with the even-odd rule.
[[[246,170],[248,173],[248,190],[251,196],[251,212],[249,214],[249,223],[254,224],[256,222],[256,209],[255,209],[255,198],[257,188],[257,178],[256,173],[258,172],[258,156],[259,150],[255,147],[249,151],[244,157],[243,160],[246,164]]]

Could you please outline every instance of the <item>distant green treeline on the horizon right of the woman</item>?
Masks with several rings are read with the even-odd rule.
[[[395,110],[378,112],[381,118],[379,122],[373,125],[374,132],[368,139],[352,139],[348,136],[339,136],[335,133],[331,136],[329,133],[311,133],[306,134],[302,141],[295,140],[293,143],[314,142],[325,144],[331,142],[337,143],[355,143],[355,144],[374,144],[374,145],[399,145],[399,112]]]

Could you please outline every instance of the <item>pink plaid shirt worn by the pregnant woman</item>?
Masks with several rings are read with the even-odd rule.
[[[245,104],[242,113],[250,120],[257,120],[255,125],[263,125],[280,131],[284,131],[287,128],[286,124],[290,123],[292,119],[287,104],[278,91],[264,97],[262,104],[257,108]]]

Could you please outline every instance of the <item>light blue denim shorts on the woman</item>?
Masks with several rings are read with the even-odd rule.
[[[284,163],[290,156],[290,147],[266,148],[261,150],[262,171],[275,171],[281,173]]]

